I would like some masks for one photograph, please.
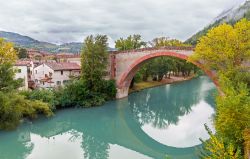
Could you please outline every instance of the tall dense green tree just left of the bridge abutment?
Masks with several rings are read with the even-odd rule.
[[[97,90],[98,83],[107,75],[108,44],[106,35],[88,36],[81,53],[81,78],[91,89]]]

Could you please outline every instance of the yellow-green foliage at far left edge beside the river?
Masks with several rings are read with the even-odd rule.
[[[17,92],[22,80],[14,79],[15,60],[13,45],[0,39],[0,129],[14,129],[23,117],[35,118],[40,113],[46,116],[53,114],[48,104],[28,100]]]

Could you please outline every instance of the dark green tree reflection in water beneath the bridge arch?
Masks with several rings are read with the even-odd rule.
[[[131,94],[129,102],[134,118],[140,125],[167,128],[170,124],[176,125],[179,117],[190,113],[192,106],[201,100],[214,105],[211,103],[214,90],[204,90],[203,84],[209,82],[207,78],[200,78],[186,81],[185,84],[161,86],[165,89],[147,89],[136,95]]]

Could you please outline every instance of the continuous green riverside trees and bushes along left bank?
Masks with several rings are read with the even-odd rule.
[[[82,49],[84,63],[79,79],[54,90],[18,91],[22,80],[14,79],[13,68],[17,52],[13,44],[0,39],[0,129],[14,129],[21,119],[33,119],[38,114],[49,117],[56,109],[98,106],[113,99],[115,82],[102,78],[107,56],[107,36],[89,36]]]

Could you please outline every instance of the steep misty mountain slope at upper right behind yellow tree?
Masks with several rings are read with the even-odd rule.
[[[247,0],[243,3],[238,3],[235,6],[224,10],[207,27],[186,40],[186,43],[195,45],[197,44],[197,41],[211,28],[216,27],[222,23],[235,24],[242,18],[250,20],[250,0]]]

